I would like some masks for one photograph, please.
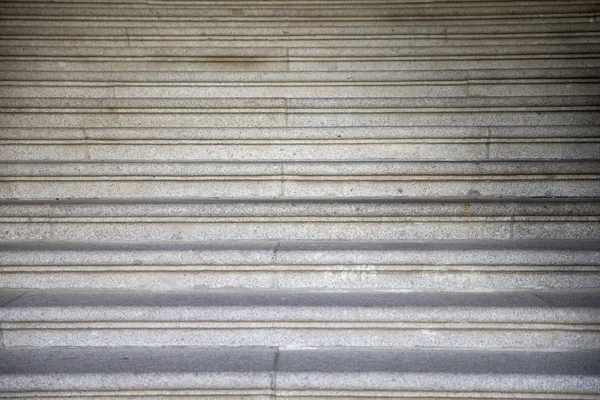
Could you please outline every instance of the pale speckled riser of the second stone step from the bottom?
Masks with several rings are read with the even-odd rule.
[[[7,324],[11,325],[11,324]],[[50,328],[50,329],[48,329]],[[469,349],[594,349],[600,333],[569,331],[436,329],[320,329],[265,327],[263,329],[94,329],[68,330],[38,326],[24,330],[2,330],[4,346],[269,346],[269,347],[396,347]]]

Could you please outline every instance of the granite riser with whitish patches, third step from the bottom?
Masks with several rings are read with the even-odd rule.
[[[402,268],[373,265],[339,265],[315,271],[313,266],[290,265],[281,269],[249,266],[171,266],[30,268],[2,267],[2,285],[14,289],[310,289],[310,290],[525,290],[595,289],[600,271],[592,267],[497,269],[474,265],[467,271],[427,267]],[[258,271],[257,271],[258,269]],[[440,269],[447,269],[442,268]],[[458,269],[458,271],[457,271]],[[50,272],[56,271],[57,272]],[[132,271],[133,270],[133,271]],[[76,272],[73,272],[76,271]]]

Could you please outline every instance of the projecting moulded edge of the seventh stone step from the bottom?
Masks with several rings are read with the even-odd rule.
[[[586,69],[587,71],[587,69]],[[598,69],[600,74],[600,69]],[[251,74],[249,79],[255,82]],[[265,76],[266,74],[260,74]],[[359,74],[360,75],[360,74]],[[342,77],[351,77],[352,74],[344,74]],[[386,78],[384,72],[380,73],[380,77]],[[357,78],[357,77],[355,77]],[[213,78],[211,78],[213,79]],[[226,85],[225,82],[215,83],[211,79],[207,80],[208,84],[215,86]],[[214,78],[220,81],[218,77]],[[596,80],[596,79],[594,79]],[[347,82],[346,86],[369,85],[374,82]],[[471,81],[470,81],[471,82]],[[546,82],[546,81],[544,81]],[[295,84],[298,82],[292,82]],[[383,82],[390,84],[391,82]],[[397,82],[402,84],[401,82]],[[471,82],[473,83],[473,82]],[[507,83],[514,83],[513,80]],[[75,84],[75,82],[73,82]],[[201,82],[196,82],[200,85]],[[303,85],[318,86],[321,83],[316,81],[305,82]],[[337,86],[339,81],[323,82],[325,85]],[[151,84],[147,84],[151,86]],[[157,84],[157,86],[160,84]],[[252,83],[255,85],[255,83]],[[270,84],[265,84],[269,86]],[[279,83],[277,83],[279,85]],[[285,85],[282,83],[282,85]],[[57,85],[58,86],[58,85]],[[241,87],[243,85],[240,85]],[[258,84],[256,84],[258,86]],[[600,106],[600,96],[598,95],[562,95],[562,96],[489,96],[489,97],[371,97],[368,99],[360,97],[348,98],[300,98],[300,99],[284,99],[284,98],[43,98],[43,97],[28,97],[28,98],[1,98],[0,110],[2,112],[112,112],[112,113],[127,113],[127,112],[148,112],[155,113],[164,110],[165,112],[173,113],[206,113],[206,112],[244,112],[247,109],[278,109],[287,108],[293,112],[316,112],[323,109],[323,112],[328,112],[332,108],[351,112],[413,112],[414,110],[422,110],[422,112],[443,112],[451,110],[452,112],[477,112],[477,111],[523,111],[527,109],[544,111],[544,110],[585,110],[596,109]],[[337,112],[337,111],[336,111]]]

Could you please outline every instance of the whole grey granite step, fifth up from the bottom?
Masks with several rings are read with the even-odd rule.
[[[595,197],[600,162],[0,162],[3,198]]]

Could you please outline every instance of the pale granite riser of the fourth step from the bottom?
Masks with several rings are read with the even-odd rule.
[[[596,218],[573,221],[4,222],[2,240],[451,240],[600,238]]]

